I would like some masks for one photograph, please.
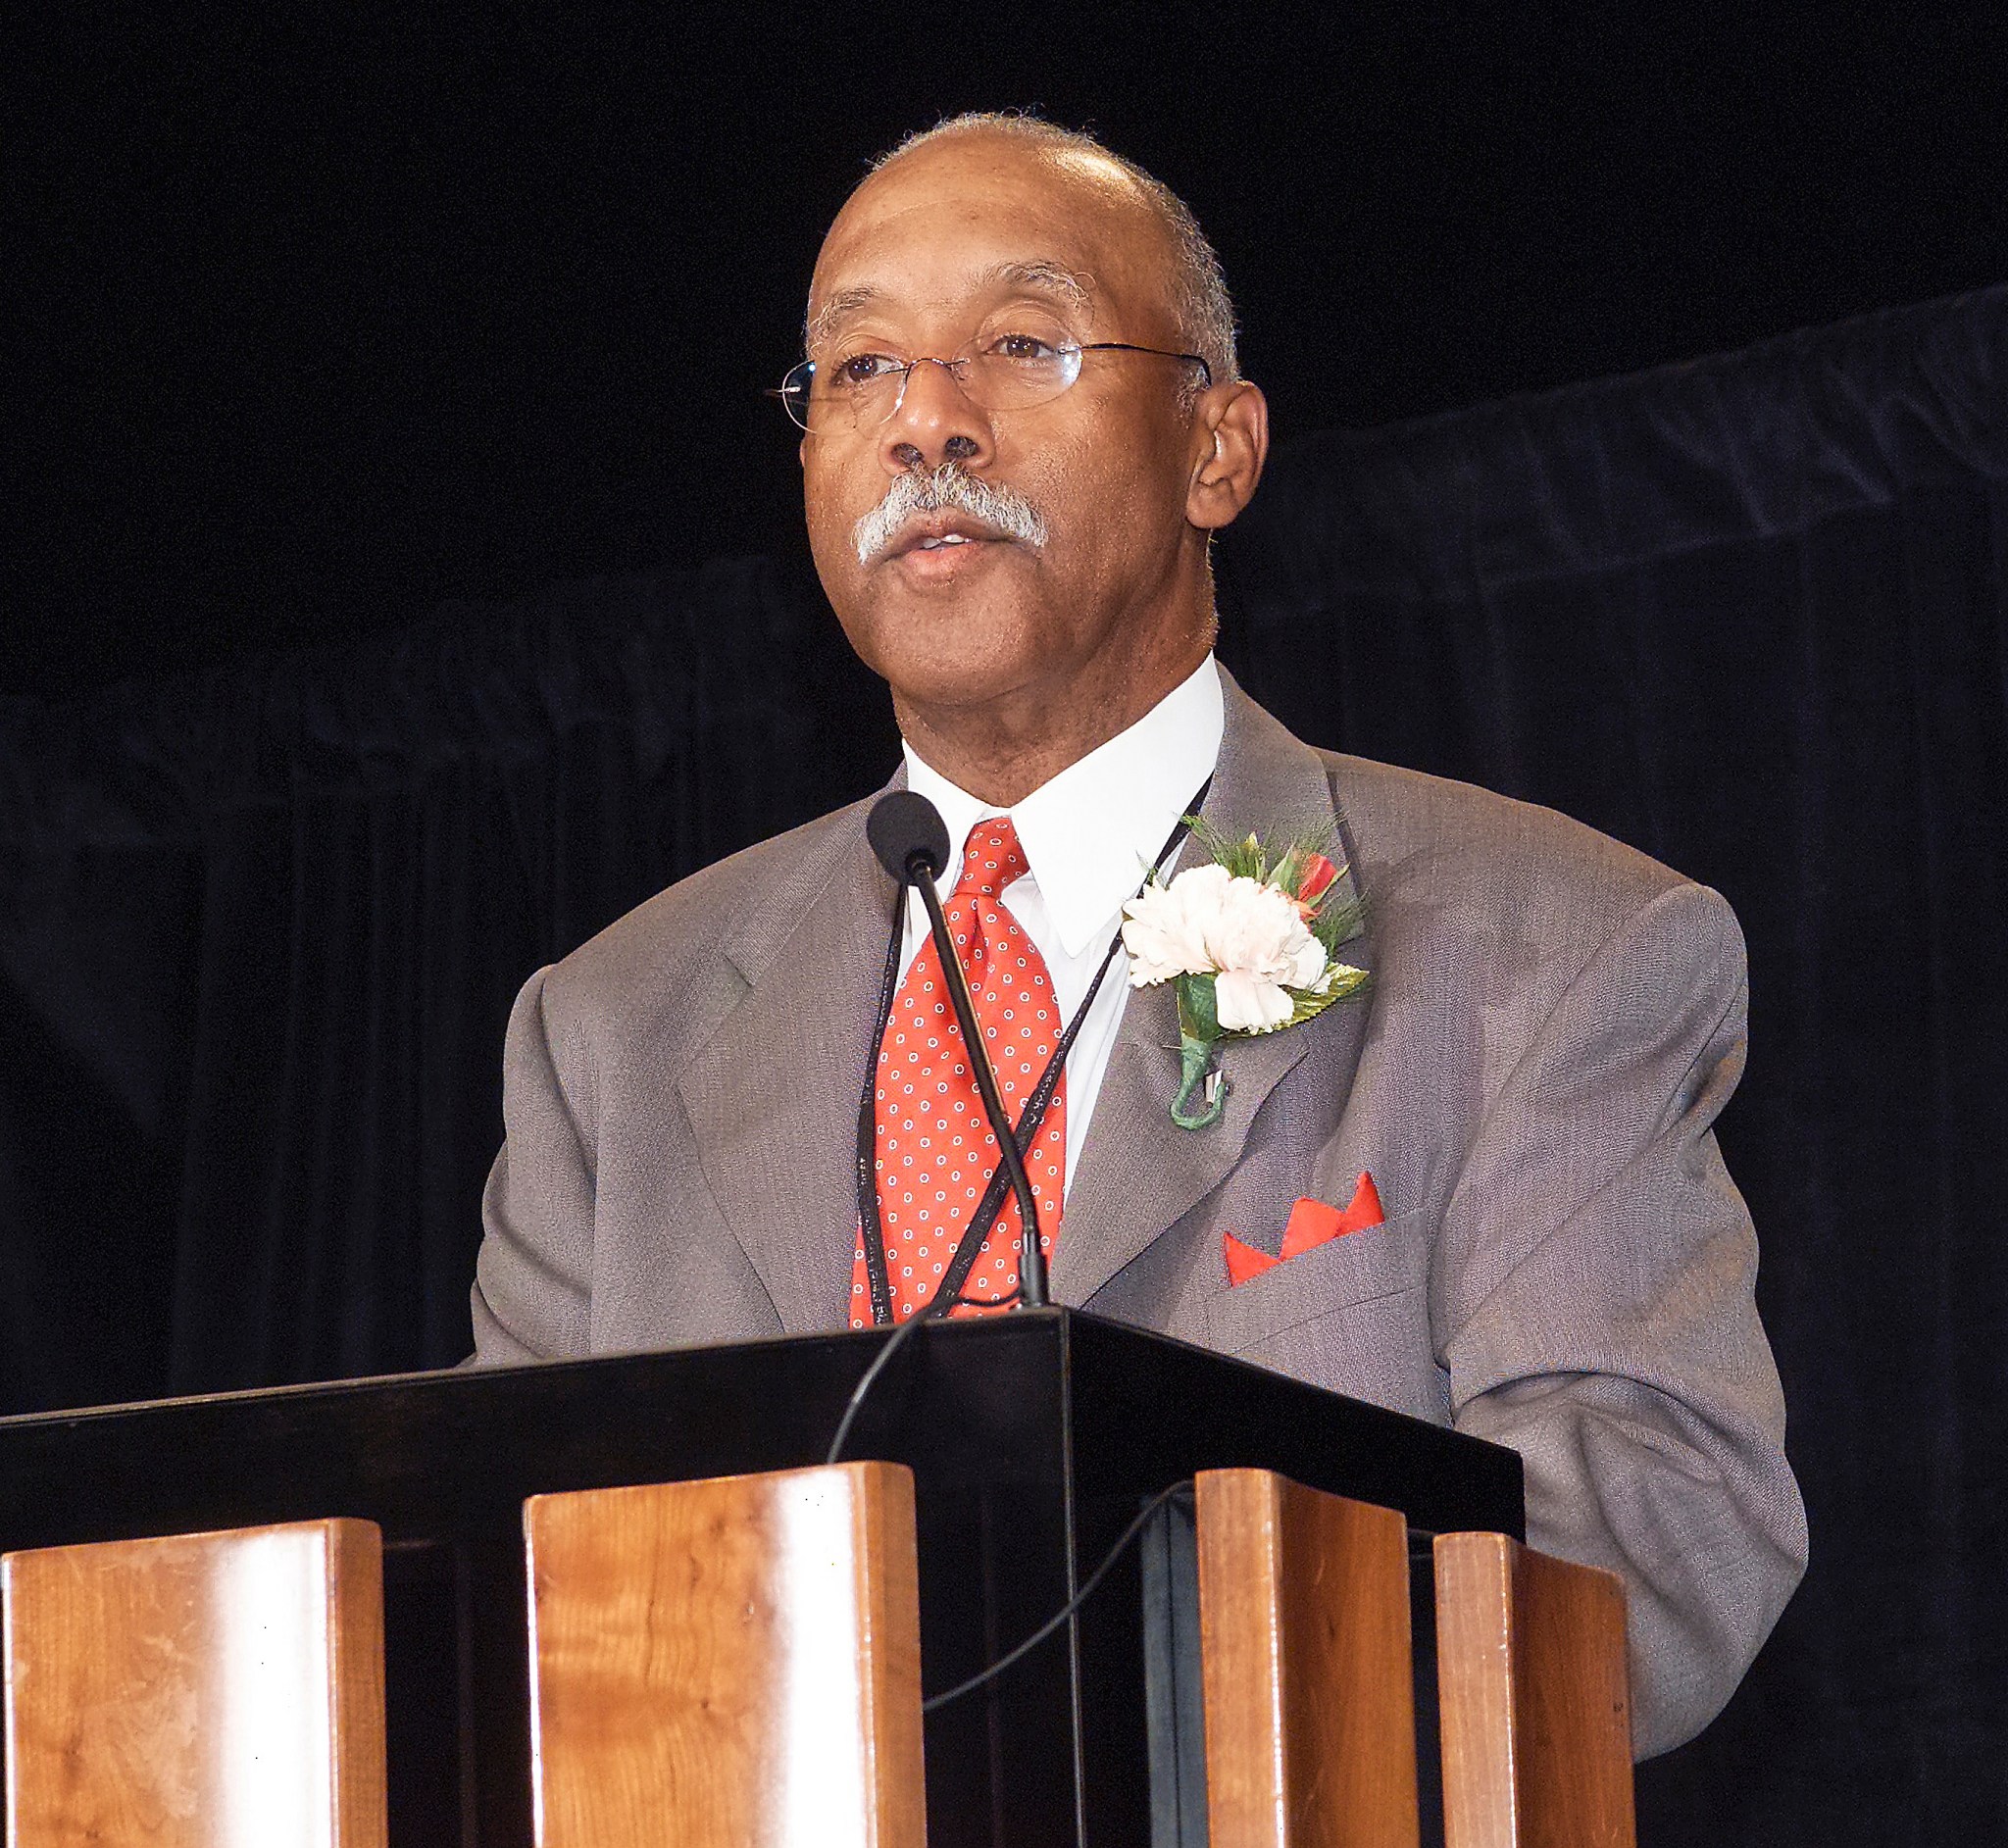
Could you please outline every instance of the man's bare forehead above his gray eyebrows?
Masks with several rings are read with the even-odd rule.
[[[1163,331],[1173,249],[1114,161],[1006,137],[930,143],[873,173],[823,239],[811,339],[869,313],[956,313],[984,295],[1058,295],[1092,319]]]

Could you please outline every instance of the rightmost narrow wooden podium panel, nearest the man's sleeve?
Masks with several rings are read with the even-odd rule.
[[[1446,1848],[1633,1848],[1624,1585],[1506,1535],[1436,1539]]]

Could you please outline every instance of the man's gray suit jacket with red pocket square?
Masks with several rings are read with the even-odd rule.
[[[869,803],[671,886],[524,986],[476,1358],[841,1328],[892,882]],[[1711,890],[1548,810],[1315,751],[1229,683],[1223,834],[1333,822],[1357,1002],[1229,1041],[1173,1127],[1171,986],[1131,994],[1052,1294],[1526,1458],[1528,1539],[1624,1575],[1635,1742],[1729,1697],[1805,1563],[1757,1241],[1711,1125],[1743,940]],[[1195,850],[1187,848],[1187,858]],[[1291,1203],[1388,1221],[1229,1288]]]

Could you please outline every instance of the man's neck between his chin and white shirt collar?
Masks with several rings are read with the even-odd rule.
[[[1016,807],[1062,769],[1128,731],[1207,659],[1211,637],[1139,671],[1076,677],[1064,693],[1038,685],[980,707],[924,707],[894,693],[900,735],[958,789],[992,807]],[[1106,683],[1104,683],[1106,681]]]

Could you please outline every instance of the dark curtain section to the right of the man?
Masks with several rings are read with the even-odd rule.
[[[1751,952],[1721,1125],[1813,1563],[1647,1842],[2008,1832],[2008,291],[1277,458],[1293,729],[1566,810]]]

